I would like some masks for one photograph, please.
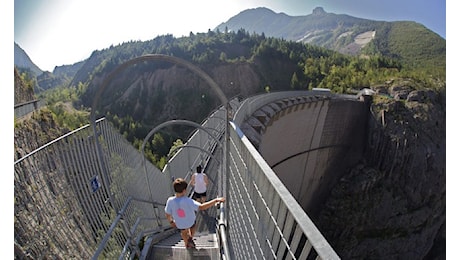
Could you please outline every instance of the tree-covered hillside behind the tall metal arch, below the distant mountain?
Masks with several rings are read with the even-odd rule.
[[[394,78],[412,78],[420,88],[445,88],[445,66],[431,67],[428,74],[426,68],[406,66],[400,57],[344,55],[310,44],[250,34],[242,29],[190,33],[181,38],[164,35],[94,51],[70,84],[82,93],[75,107],[90,109],[98,87],[112,71],[146,54],[171,55],[197,65],[228,98],[313,87],[354,93]],[[425,56],[419,58],[425,59]],[[442,57],[439,60],[442,64]],[[96,109],[139,147],[153,126],[168,119],[200,122],[219,105],[209,86],[190,71],[151,61],[130,66],[113,76]],[[187,134],[170,137],[165,143],[184,139]]]

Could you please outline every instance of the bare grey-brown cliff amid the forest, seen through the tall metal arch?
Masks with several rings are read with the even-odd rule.
[[[260,91],[261,78],[255,65],[234,63],[203,70],[215,79],[227,97],[251,96]],[[133,73],[120,73],[114,77],[99,99],[102,111],[158,125],[170,118],[200,122],[210,111],[222,105],[209,84],[186,68],[171,66]],[[95,86],[101,85],[104,78],[93,79],[89,91],[82,98],[87,106],[91,106]]]

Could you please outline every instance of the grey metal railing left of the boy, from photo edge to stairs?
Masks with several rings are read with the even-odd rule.
[[[152,203],[166,201],[170,179],[148,164],[147,178],[152,181],[146,182],[140,152],[106,120],[98,120],[97,127],[108,176],[101,174],[89,125],[15,161],[14,240],[19,259],[91,258],[130,197],[140,200],[124,209],[123,225],[115,228],[102,257],[118,256],[128,239],[168,225],[164,207]],[[146,183],[157,191],[154,198]],[[125,228],[133,226],[134,232],[127,233]]]

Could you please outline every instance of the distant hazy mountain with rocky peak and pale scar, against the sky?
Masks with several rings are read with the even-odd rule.
[[[446,40],[416,22],[373,21],[327,13],[322,7],[316,7],[309,15],[289,16],[259,7],[240,12],[215,30],[242,28],[250,33],[309,43],[343,54],[380,54],[415,67],[445,67],[446,64]]]

